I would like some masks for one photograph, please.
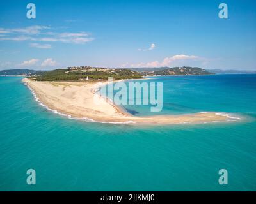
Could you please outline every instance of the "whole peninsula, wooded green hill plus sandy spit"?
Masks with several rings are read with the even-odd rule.
[[[234,119],[227,114],[216,112],[136,117],[97,93],[100,86],[108,83],[108,77],[118,80],[143,78],[141,73],[127,69],[73,67],[47,71],[24,78],[23,82],[49,109],[76,119],[136,124],[206,123]],[[97,103],[95,97],[98,97]]]

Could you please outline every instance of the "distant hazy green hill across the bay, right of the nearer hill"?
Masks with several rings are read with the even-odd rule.
[[[147,76],[157,76],[157,75],[211,75],[213,73],[201,68],[184,66],[184,67],[160,69],[157,71],[149,71],[149,70],[142,71],[141,74],[147,75]]]

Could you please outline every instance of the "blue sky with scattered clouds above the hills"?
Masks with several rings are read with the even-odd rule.
[[[36,19],[26,17],[28,3]],[[220,19],[218,5],[228,5]],[[0,69],[256,70],[255,1],[0,1]]]

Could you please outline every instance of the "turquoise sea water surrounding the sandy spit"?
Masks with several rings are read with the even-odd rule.
[[[154,77],[164,87],[161,114],[242,118],[169,126],[68,119],[36,103],[21,79],[0,77],[1,191],[256,190],[256,75]],[[124,108],[152,115],[148,106]],[[29,168],[34,186],[26,184]],[[222,168],[228,185],[218,184]]]

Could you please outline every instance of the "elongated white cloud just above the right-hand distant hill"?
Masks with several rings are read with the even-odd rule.
[[[147,63],[139,63],[139,64],[131,64],[131,67],[161,67],[161,66],[172,66],[173,62],[175,61],[181,61],[181,60],[199,60],[200,57],[195,56],[195,55],[174,55],[172,57],[165,57],[163,61],[152,61],[152,62],[147,62]]]

